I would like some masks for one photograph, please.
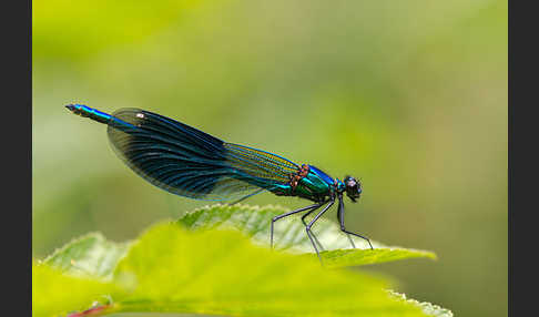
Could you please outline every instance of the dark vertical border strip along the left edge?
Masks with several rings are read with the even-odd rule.
[[[7,4],[7,6],[6,6]],[[4,316],[32,314],[32,2],[9,1],[2,27],[0,231]]]

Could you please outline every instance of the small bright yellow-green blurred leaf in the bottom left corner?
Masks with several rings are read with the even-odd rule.
[[[65,316],[108,305],[111,296],[120,294],[113,284],[70,276],[47,264],[32,263],[32,316]]]

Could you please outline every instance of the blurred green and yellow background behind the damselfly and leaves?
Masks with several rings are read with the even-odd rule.
[[[35,257],[90,231],[133,238],[206,204],[144,182],[104,125],[63,108],[133,106],[360,177],[348,227],[439,256],[372,270],[456,316],[507,316],[506,1],[32,6]]]

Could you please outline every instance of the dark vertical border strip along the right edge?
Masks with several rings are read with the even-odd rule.
[[[537,310],[538,19],[521,3],[508,2],[508,316]]]

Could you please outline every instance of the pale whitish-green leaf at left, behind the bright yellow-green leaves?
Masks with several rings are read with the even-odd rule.
[[[101,233],[90,233],[54,250],[43,262],[51,267],[78,276],[110,279],[130,243],[114,243]]]

